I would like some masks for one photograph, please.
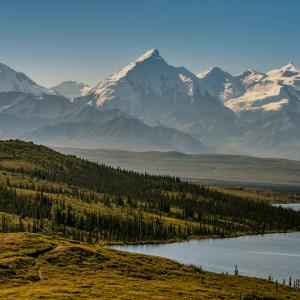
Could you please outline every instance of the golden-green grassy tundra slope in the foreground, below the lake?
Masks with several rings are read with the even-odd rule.
[[[299,299],[262,279],[40,234],[0,234],[0,299]],[[251,299],[251,298],[250,298]],[[253,299],[253,298],[252,298]]]

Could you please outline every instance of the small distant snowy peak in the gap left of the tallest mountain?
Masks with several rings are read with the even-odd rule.
[[[51,90],[57,91],[60,95],[73,100],[76,97],[86,95],[90,90],[90,86],[84,82],[68,80],[51,87]]]

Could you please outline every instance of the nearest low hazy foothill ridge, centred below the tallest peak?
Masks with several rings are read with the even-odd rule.
[[[102,124],[80,122],[44,126],[23,136],[26,140],[55,146],[100,147],[131,150],[209,151],[188,134],[175,129],[150,127],[137,119],[116,117]]]

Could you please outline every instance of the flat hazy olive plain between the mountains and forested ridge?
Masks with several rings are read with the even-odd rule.
[[[57,148],[60,152],[114,167],[170,174],[206,183],[232,183],[300,189],[300,162],[241,155],[188,155]]]

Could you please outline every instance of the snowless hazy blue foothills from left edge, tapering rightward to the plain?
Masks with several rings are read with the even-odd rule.
[[[118,109],[99,110],[58,95],[0,93],[0,125],[0,139],[19,138],[47,145],[212,151],[187,133],[149,126]]]

